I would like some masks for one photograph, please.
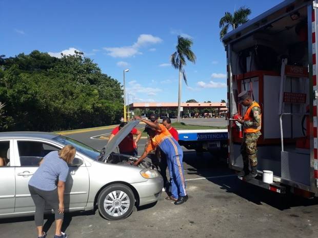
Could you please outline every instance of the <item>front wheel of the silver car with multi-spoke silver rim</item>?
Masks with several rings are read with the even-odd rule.
[[[127,218],[134,204],[135,196],[124,184],[112,184],[105,187],[97,199],[98,211],[103,218],[110,221]]]

